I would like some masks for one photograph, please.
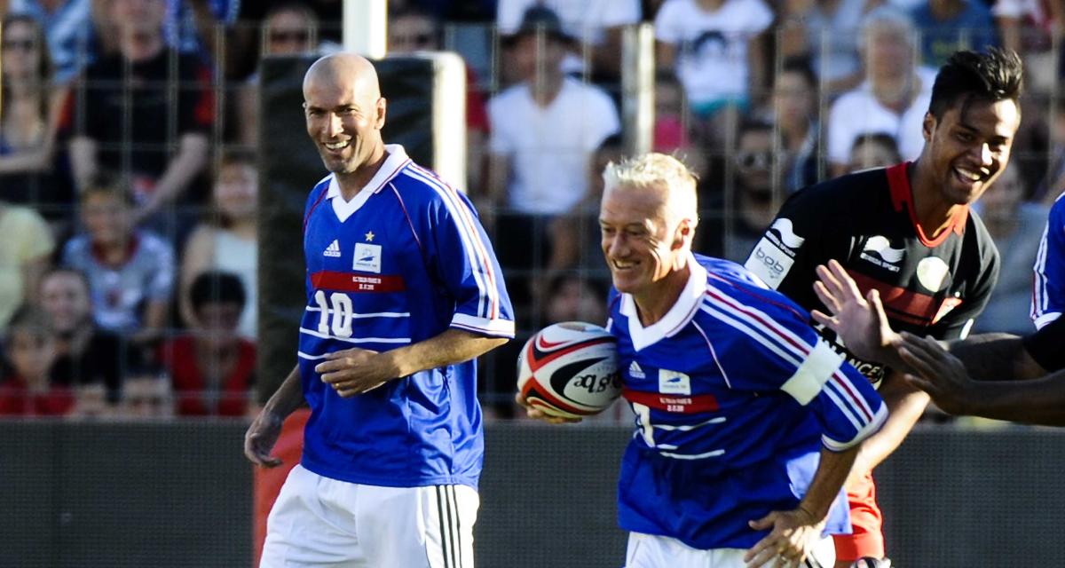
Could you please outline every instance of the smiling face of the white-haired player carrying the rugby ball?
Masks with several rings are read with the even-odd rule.
[[[600,208],[603,254],[613,287],[637,302],[665,285],[687,248],[677,244],[685,221],[670,223],[662,188],[607,189]],[[683,265],[683,263],[682,263]]]

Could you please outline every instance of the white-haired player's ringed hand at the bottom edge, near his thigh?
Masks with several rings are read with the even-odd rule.
[[[743,555],[748,568],[794,568],[821,538],[824,520],[815,519],[813,514],[800,506],[793,510],[774,510],[756,521],[748,521],[748,524],[755,531],[772,529]]]

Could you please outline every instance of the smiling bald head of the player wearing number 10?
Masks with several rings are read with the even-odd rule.
[[[384,109],[373,67],[320,61],[304,81],[307,134],[332,173],[353,174],[383,151]]]

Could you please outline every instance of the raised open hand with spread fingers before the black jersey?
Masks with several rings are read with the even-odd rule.
[[[830,260],[828,266],[819,265],[817,276],[819,281],[814,282],[814,292],[832,315],[814,310],[810,313],[814,320],[835,331],[855,356],[889,363],[895,357],[892,345],[899,341],[899,336],[887,321],[880,293],[870,290],[862,297],[854,279],[835,260]]]

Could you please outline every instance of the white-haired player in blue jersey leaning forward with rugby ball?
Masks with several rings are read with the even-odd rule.
[[[618,494],[627,568],[832,566],[828,536],[850,530],[840,487],[883,402],[806,312],[691,253],[684,164],[651,153],[603,177],[607,328],[637,416]]]

